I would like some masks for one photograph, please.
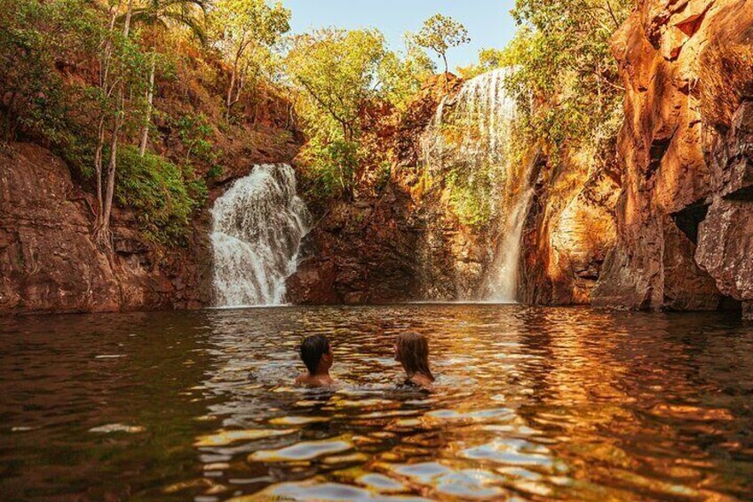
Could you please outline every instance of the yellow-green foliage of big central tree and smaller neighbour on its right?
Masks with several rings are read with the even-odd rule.
[[[387,50],[376,30],[321,29],[292,39],[286,66],[298,92],[308,137],[302,158],[314,192],[352,198],[360,174],[380,170],[380,155],[370,150],[384,145],[364,135],[374,110],[384,102],[405,109],[432,74],[432,62],[415,44],[404,57]]]

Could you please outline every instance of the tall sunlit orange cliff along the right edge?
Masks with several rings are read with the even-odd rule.
[[[753,4],[640,2],[613,52],[622,194],[594,305],[753,301]]]

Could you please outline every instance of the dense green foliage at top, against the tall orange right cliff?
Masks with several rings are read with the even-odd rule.
[[[630,0],[518,0],[519,30],[488,66],[513,66],[507,85],[518,96],[527,133],[556,152],[566,143],[612,139],[622,88],[609,38]],[[556,160],[556,155],[552,155]]]

